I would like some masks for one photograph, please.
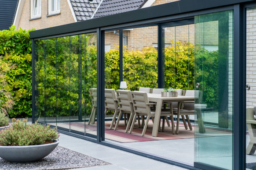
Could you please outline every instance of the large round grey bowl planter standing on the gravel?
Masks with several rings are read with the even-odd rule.
[[[34,162],[48,156],[59,141],[44,145],[0,146],[0,157],[9,162]]]

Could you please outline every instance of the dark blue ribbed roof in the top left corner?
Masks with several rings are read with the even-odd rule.
[[[18,0],[0,0],[0,30],[11,27],[17,3]]]

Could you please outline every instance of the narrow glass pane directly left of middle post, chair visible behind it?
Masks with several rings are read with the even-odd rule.
[[[85,34],[86,134],[97,135],[97,33]]]

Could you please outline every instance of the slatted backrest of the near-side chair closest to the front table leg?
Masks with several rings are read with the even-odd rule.
[[[146,92],[131,92],[131,97],[135,113],[150,115],[149,99]]]

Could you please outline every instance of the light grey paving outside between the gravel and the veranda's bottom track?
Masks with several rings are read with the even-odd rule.
[[[111,163],[111,165],[76,170],[185,170],[178,166],[169,165],[64,134],[60,134],[59,140],[59,145],[62,147]]]

